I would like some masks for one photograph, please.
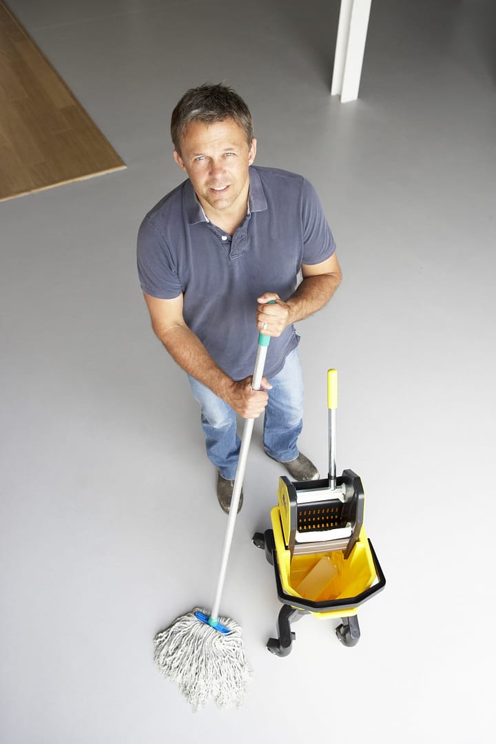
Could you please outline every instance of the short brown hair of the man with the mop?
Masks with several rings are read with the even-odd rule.
[[[245,132],[248,146],[253,140],[253,120],[242,97],[224,83],[204,83],[199,88],[190,88],[173,110],[170,119],[170,135],[175,150],[181,154],[180,140],[193,121],[213,124],[215,121],[233,119]]]

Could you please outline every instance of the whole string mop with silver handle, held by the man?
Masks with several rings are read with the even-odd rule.
[[[270,340],[270,336],[259,334],[252,382],[254,390],[260,390]],[[158,670],[171,682],[178,684],[194,711],[202,708],[210,697],[219,708],[229,705],[239,708],[251,676],[241,628],[234,620],[219,617],[219,606],[253,427],[254,419],[245,419],[221,567],[210,614],[196,607],[155,635],[155,664]]]

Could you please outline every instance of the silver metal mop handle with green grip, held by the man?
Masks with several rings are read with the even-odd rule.
[[[262,385],[263,368],[265,366],[265,356],[267,356],[268,344],[270,344],[271,337],[265,336],[265,333],[260,333],[258,336],[258,348],[257,348],[257,359],[255,360],[255,369],[253,373],[253,381],[251,387],[254,390],[260,390]],[[225,574],[228,568],[228,557],[229,551],[231,550],[231,542],[233,540],[234,525],[236,523],[236,516],[238,513],[239,498],[241,496],[241,489],[243,480],[245,478],[246,462],[248,460],[248,449],[251,442],[251,434],[253,432],[255,420],[245,419],[245,426],[243,428],[241,449],[239,450],[238,466],[236,469],[236,478],[234,479],[233,497],[231,499],[231,508],[229,510],[228,525],[225,529],[224,538],[224,549],[222,551],[221,566],[219,571],[219,579],[217,580],[217,589],[215,598],[213,600],[212,610],[210,612],[210,618],[208,620],[209,625],[214,628],[218,627],[219,620],[219,606],[224,589]],[[222,626],[219,627],[222,629]]]

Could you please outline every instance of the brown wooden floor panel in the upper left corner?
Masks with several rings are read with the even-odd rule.
[[[125,167],[0,0],[0,201]]]

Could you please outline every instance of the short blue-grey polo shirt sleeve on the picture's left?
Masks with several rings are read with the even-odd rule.
[[[146,295],[159,300],[172,300],[182,292],[176,260],[164,236],[149,217],[138,231],[138,276]]]

